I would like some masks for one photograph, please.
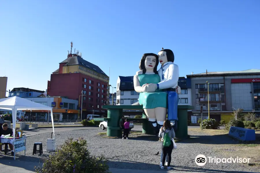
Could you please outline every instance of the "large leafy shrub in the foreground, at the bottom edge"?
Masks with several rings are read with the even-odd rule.
[[[35,168],[36,173],[109,173],[107,160],[90,155],[87,141],[83,138],[74,140],[69,138],[53,155],[46,157],[42,166]]]

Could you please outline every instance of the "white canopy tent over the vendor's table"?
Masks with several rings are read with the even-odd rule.
[[[0,109],[12,110],[12,119],[13,119],[13,133],[15,134],[15,125],[16,125],[16,112],[17,110],[49,110],[51,111],[51,123],[53,129],[53,138],[54,137],[54,125],[53,125],[53,114],[52,108],[49,106],[45,106],[39,103],[35,103],[33,101],[23,99],[21,97],[13,96],[5,99],[0,99]],[[14,139],[15,139],[15,135]]]

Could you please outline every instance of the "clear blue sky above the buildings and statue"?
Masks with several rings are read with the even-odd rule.
[[[142,54],[171,49],[180,76],[259,69],[258,0],[1,1],[0,76],[7,89],[47,89],[73,41],[116,86]]]

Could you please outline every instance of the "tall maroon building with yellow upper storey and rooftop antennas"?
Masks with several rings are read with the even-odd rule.
[[[107,114],[102,105],[109,104],[109,77],[96,65],[81,58],[81,54],[68,54],[59,69],[51,74],[47,94],[79,100],[83,90],[82,119],[87,114]]]

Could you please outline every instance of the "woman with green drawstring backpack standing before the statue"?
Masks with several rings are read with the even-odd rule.
[[[168,164],[167,169],[171,169],[170,164],[172,160],[172,149],[173,149],[173,138],[175,138],[175,132],[171,126],[169,120],[164,121],[163,127],[161,127],[159,132],[159,138],[162,142],[161,150],[162,150],[162,166],[161,169],[164,169],[165,159],[167,155]]]

